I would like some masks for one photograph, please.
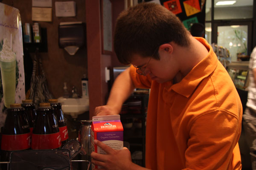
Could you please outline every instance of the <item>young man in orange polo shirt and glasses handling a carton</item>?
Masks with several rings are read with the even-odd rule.
[[[227,71],[203,38],[194,38],[169,10],[141,3],[117,19],[114,50],[131,63],[113,84],[107,105],[95,115],[118,114],[134,88],[150,88],[146,168],[241,170],[238,140],[242,106]],[[92,153],[107,170],[145,169],[127,149]]]

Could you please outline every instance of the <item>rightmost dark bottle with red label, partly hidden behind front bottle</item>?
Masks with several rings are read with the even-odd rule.
[[[55,116],[61,134],[61,146],[64,146],[64,144],[68,142],[68,131],[67,123],[64,119],[64,115],[61,109],[61,103],[58,102],[58,99],[49,99],[48,102],[54,108]]]

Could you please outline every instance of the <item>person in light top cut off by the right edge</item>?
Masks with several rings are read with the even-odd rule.
[[[250,55],[248,96],[243,125],[245,138],[250,147],[252,170],[256,170],[256,47]]]

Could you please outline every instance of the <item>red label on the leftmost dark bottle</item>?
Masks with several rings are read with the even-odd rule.
[[[31,134],[2,134],[1,150],[25,150],[30,148]]]

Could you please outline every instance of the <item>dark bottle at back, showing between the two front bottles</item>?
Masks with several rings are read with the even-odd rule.
[[[30,132],[32,133],[36,117],[35,104],[32,103],[31,99],[25,99],[22,100],[21,106],[25,108],[25,115],[29,122]]]

